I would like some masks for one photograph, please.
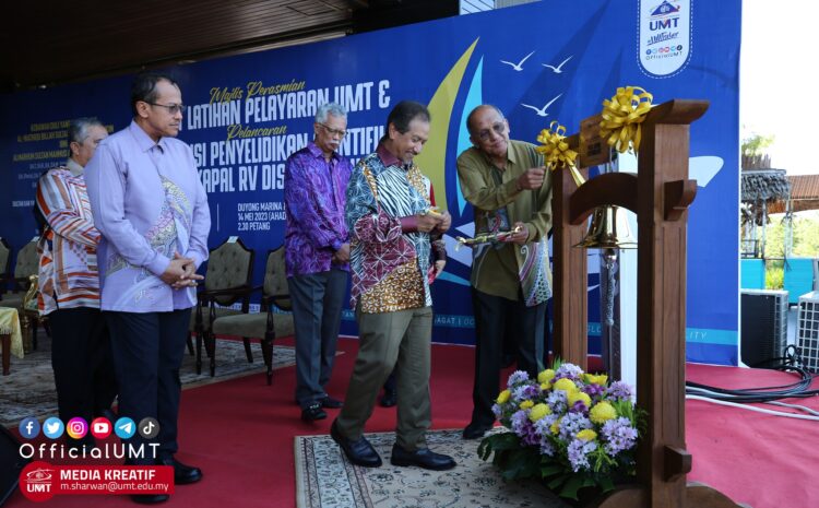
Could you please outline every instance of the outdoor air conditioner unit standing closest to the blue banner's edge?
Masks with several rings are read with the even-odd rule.
[[[770,367],[787,346],[787,292],[741,291],[741,347],[744,364]]]

